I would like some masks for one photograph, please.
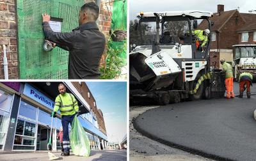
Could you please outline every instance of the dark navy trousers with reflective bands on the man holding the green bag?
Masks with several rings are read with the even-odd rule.
[[[70,143],[69,143],[69,136],[68,136],[68,124],[72,125],[75,115],[71,116],[61,116],[61,124],[63,127],[63,149],[65,153],[69,153],[70,150]]]

